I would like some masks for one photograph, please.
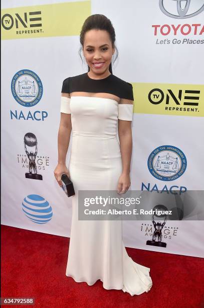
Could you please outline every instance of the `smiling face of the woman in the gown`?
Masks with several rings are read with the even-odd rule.
[[[93,74],[103,74],[109,71],[115,48],[112,48],[107,31],[93,29],[85,34],[83,52],[90,71]]]

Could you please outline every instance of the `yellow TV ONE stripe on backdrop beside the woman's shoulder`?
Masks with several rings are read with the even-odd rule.
[[[204,86],[132,83],[134,113],[204,116]]]

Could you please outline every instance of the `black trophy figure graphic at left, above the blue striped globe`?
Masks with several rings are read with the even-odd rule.
[[[35,162],[37,152],[38,152],[37,144],[38,144],[37,138],[33,133],[25,134],[24,146],[25,146],[25,151],[27,153],[27,156],[29,158],[29,173],[27,172],[25,176],[27,179],[43,180],[42,175],[37,173],[37,166]],[[29,147],[35,146],[36,147],[35,153],[32,150],[28,151],[26,146],[29,146]],[[34,173],[32,173],[32,169]]]

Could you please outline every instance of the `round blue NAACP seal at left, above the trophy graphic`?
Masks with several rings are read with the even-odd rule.
[[[38,104],[43,95],[43,85],[39,76],[30,69],[19,70],[12,79],[12,94],[22,106]]]

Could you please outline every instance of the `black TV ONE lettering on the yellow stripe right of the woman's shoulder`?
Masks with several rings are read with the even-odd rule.
[[[148,100],[153,105],[159,105],[161,103],[165,105],[173,106],[187,106],[194,107],[194,110],[188,111],[198,111],[197,106],[199,103],[199,90],[178,90],[172,91],[171,89],[161,90],[158,88],[152,89],[148,94]],[[170,107],[166,106],[165,109],[168,110]],[[192,109],[192,108],[189,108]],[[175,110],[175,109],[174,109]],[[177,109],[178,110],[178,109]],[[179,110],[181,110],[179,108]]]

